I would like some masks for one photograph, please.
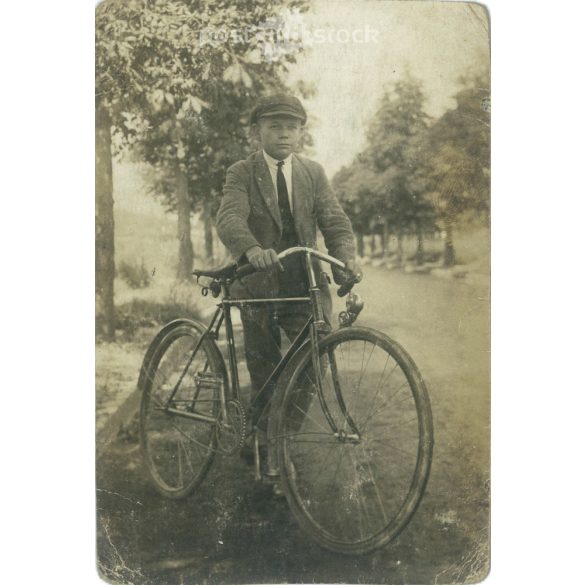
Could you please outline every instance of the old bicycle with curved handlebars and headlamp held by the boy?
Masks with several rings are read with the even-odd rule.
[[[348,296],[340,328],[323,316],[312,258],[339,260],[305,247],[306,296],[233,299],[230,286],[253,272],[235,264],[195,270],[208,279],[202,293],[220,297],[208,326],[179,319],[162,328],[141,368],[140,435],[156,489],[173,499],[191,495],[217,454],[237,453],[262,415],[277,453],[293,516],[327,549],[364,554],[408,524],[423,496],[432,449],[428,393],[412,358],[385,334],[353,326],[363,302]],[[355,281],[338,291],[344,296]],[[269,380],[247,408],[240,398],[232,307],[245,303],[309,303],[310,317]],[[218,346],[225,324],[228,365]],[[276,385],[271,385],[276,382]],[[272,394],[269,394],[272,389]],[[258,401],[264,410],[255,408]],[[256,475],[259,457],[255,443]]]

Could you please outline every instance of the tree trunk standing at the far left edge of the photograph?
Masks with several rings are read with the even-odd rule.
[[[112,178],[112,121],[98,104],[95,115],[95,293],[96,314],[103,316],[98,331],[108,341],[116,336],[114,307],[114,183]]]

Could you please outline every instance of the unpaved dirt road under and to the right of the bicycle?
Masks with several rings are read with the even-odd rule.
[[[485,286],[366,267],[359,323],[412,355],[427,382],[433,468],[411,523],[390,546],[344,557],[309,541],[284,500],[239,458],[216,459],[199,492],[158,496],[135,433],[98,461],[102,574],[124,583],[477,582],[489,566],[489,302]],[[374,293],[374,291],[378,291]]]

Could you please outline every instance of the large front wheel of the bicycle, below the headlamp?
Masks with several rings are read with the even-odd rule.
[[[332,333],[319,342],[319,358],[323,399],[311,351],[283,398],[283,489],[322,546],[363,554],[392,540],[423,495],[433,445],[429,398],[404,349],[372,329]]]

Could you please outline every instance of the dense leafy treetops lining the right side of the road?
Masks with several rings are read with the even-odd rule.
[[[446,231],[445,263],[455,262],[453,228],[489,218],[489,71],[460,79],[456,107],[432,120],[420,82],[410,77],[381,96],[366,146],[333,182],[362,234]],[[384,242],[383,242],[384,243]]]

